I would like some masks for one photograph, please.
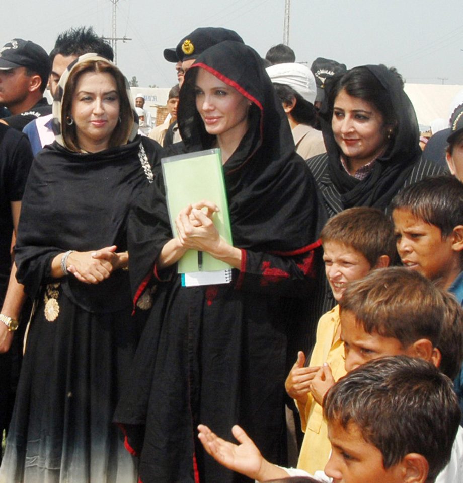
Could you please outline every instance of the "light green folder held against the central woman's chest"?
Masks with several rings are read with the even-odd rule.
[[[175,219],[188,204],[203,199],[214,202],[220,209],[212,220],[220,236],[233,245],[230,217],[223,177],[222,157],[219,149],[170,156],[161,160],[167,208],[172,233],[177,236]],[[202,253],[202,265],[198,264],[198,251],[188,250],[178,262],[179,273],[216,271],[232,268],[206,252]]]

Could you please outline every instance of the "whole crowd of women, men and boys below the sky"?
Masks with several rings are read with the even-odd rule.
[[[92,28],[0,49],[0,483],[463,482],[463,100],[434,160],[394,68],[164,57],[156,122]]]

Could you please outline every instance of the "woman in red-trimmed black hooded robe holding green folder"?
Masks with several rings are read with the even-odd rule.
[[[135,302],[152,283],[157,292],[115,419],[140,454],[143,482],[242,481],[204,456],[196,426],[208,422],[229,437],[241,422],[264,454],[281,461],[282,300],[305,297],[312,285],[315,187],[250,47],[226,41],[205,51],[185,76],[179,106],[187,148],[221,149],[234,246],[198,210],[213,212],[209,202],[183,210],[173,238],[161,179],[133,211]],[[186,248],[225,259],[233,281],[182,287],[175,262]]]

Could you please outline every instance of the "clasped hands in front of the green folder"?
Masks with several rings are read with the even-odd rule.
[[[218,211],[215,203],[206,200],[186,206],[175,219],[182,247],[213,253],[220,244],[220,235],[212,221]]]

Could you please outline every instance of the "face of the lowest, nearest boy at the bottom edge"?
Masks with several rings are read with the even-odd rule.
[[[384,469],[382,454],[376,446],[366,442],[355,423],[347,428],[328,422],[331,456],[325,466],[333,483],[403,483],[403,468],[396,464]]]

